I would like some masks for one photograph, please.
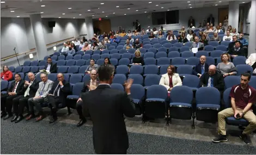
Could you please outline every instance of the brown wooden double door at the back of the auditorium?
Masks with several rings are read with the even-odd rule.
[[[111,21],[110,20],[95,20],[93,21],[94,33],[99,32],[99,34],[103,34],[103,32],[109,33],[111,31]]]

